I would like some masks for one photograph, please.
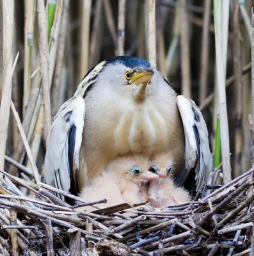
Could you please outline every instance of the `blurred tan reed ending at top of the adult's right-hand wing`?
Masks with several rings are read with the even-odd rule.
[[[191,66],[189,55],[189,28],[186,10],[186,0],[180,0],[180,55],[182,90],[181,93],[191,98]]]

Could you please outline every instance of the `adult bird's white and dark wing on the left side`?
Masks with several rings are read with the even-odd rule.
[[[69,191],[70,179],[79,168],[84,113],[83,97],[72,97],[61,106],[51,125],[45,182],[63,191]]]

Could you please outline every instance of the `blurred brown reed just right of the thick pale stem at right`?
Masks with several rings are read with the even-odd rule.
[[[235,90],[235,156],[234,177],[241,174],[241,152],[242,152],[242,76],[241,76],[241,28],[238,1],[234,1],[234,90]]]

